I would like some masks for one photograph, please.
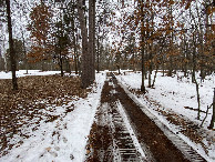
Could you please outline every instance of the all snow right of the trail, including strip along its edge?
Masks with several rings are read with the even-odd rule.
[[[154,73],[153,73],[154,74]],[[201,125],[202,120],[205,118],[205,113],[201,113],[201,120],[197,120],[197,111],[185,109],[185,107],[197,109],[197,99],[196,99],[196,87],[192,83],[191,78],[183,78],[183,73],[180,73],[173,78],[162,77],[162,73],[157,73],[155,89],[149,89],[145,97],[151,101],[155,101],[162,107],[162,110],[165,112],[173,112],[176,114],[182,114],[184,119],[188,119],[194,123]],[[181,78],[182,77],[182,78]],[[140,90],[141,88],[141,72],[123,72],[122,75],[116,77],[117,80],[125,84],[126,88]],[[201,95],[201,110],[206,111],[207,105],[213,103],[213,94],[215,88],[215,75],[206,77],[205,81],[201,83],[199,78],[197,79],[199,83],[199,95]],[[145,80],[145,85],[147,87],[147,80]],[[180,132],[177,126],[171,124],[162,113],[155,111],[156,105],[151,104],[144,98],[137,97],[136,99],[143,105],[150,108],[150,111],[154,113],[162,122],[171,126],[175,132]],[[206,118],[203,124],[204,139],[203,143],[206,145],[208,153],[205,153],[201,144],[196,144],[184,136],[182,133],[178,133],[182,139],[195,148],[195,150],[204,155],[209,161],[215,161],[215,132],[207,129],[212,119],[212,109],[208,111],[208,117]],[[209,141],[208,141],[209,139]]]

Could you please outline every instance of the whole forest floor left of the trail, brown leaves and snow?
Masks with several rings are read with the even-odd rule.
[[[0,161],[83,161],[105,73],[81,89],[75,74],[24,72],[18,71],[16,92],[0,79]]]

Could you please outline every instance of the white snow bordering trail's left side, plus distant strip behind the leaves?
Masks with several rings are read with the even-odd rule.
[[[25,71],[19,71],[18,77],[23,77]],[[33,75],[54,74],[59,72],[29,71]],[[96,74],[96,81],[92,92],[86,99],[75,99],[68,105],[74,105],[74,110],[66,112],[66,107],[58,107],[52,114],[60,115],[53,122],[41,120],[35,131],[35,125],[22,128],[22,132],[29,138],[14,135],[10,141],[12,150],[2,158],[1,162],[33,162],[33,161],[74,161],[82,162],[85,158],[85,145],[95,111],[100,104],[101,91],[105,80],[105,72]],[[0,73],[1,79],[11,78],[9,73]],[[50,113],[48,110],[43,113]],[[23,118],[24,120],[24,118]],[[33,121],[32,121],[33,122]],[[18,143],[22,141],[22,144]]]

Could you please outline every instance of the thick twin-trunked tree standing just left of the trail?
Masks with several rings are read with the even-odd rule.
[[[82,36],[82,87],[88,88],[95,78],[94,59],[95,59],[95,0],[89,1],[89,40],[88,27],[84,16],[85,1],[78,1],[78,14]]]

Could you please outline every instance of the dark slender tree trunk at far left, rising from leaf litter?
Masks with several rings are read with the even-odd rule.
[[[11,16],[10,16],[11,14],[10,13],[10,0],[6,0],[6,4],[7,4],[7,13],[8,13],[8,32],[9,32],[11,71],[12,71],[12,87],[13,87],[13,90],[18,90],[18,83],[17,83],[17,77],[16,77],[16,70],[17,70],[16,51],[13,48],[12,24],[11,24]]]

